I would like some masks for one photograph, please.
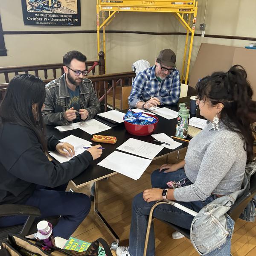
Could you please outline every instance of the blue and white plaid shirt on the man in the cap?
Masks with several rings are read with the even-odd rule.
[[[176,104],[180,97],[180,73],[172,71],[161,83],[155,75],[155,66],[140,72],[132,83],[128,98],[130,108],[135,108],[137,102],[148,101],[151,97],[161,97],[163,105]]]

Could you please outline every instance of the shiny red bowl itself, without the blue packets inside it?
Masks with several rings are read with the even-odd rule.
[[[155,122],[154,124],[150,124],[150,125],[134,125],[134,124],[131,124],[130,122],[126,122],[124,120],[125,129],[128,131],[128,133],[137,135],[137,136],[147,136],[147,135],[153,133],[153,131],[157,128],[157,123],[159,120],[158,120],[157,116],[154,116],[154,115],[151,115],[148,113],[146,113],[146,115],[153,116],[154,118],[157,119],[157,122]]]

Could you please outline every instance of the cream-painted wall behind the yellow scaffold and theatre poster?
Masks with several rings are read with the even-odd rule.
[[[196,33],[203,22],[206,0],[198,1]],[[256,37],[256,1],[253,0],[208,0],[205,18],[206,34]],[[0,15],[3,31],[38,30],[96,30],[96,0],[81,0],[81,26],[29,26],[24,25],[21,1],[0,0]],[[166,13],[121,12],[116,15],[109,30],[134,30],[148,32],[185,32],[174,15]],[[47,64],[62,61],[65,52],[77,49],[88,60],[96,60],[96,33],[4,35],[7,56],[0,56],[0,66]],[[177,52],[177,67],[181,70],[185,36],[106,34],[107,73],[131,70],[131,64],[140,58],[154,64],[159,51],[171,48]],[[244,47],[249,41],[219,38],[194,38],[193,65],[201,42]],[[1,82],[1,77],[0,77]]]

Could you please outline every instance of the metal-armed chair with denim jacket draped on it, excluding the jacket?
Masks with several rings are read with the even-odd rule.
[[[244,211],[245,207],[249,204],[249,202],[252,200],[252,198],[256,195],[256,172],[250,177],[250,183],[249,183],[249,189],[245,189],[244,194],[241,195],[235,202],[235,204],[233,204],[233,206],[230,208],[230,210],[227,212],[228,215],[230,215],[230,217],[236,221],[239,216],[241,215],[241,213]],[[153,211],[154,208],[157,207],[157,205],[159,204],[170,204],[173,205],[177,208],[183,209],[186,212],[192,214],[192,215],[197,215],[197,212],[194,212],[186,207],[183,207],[182,205],[180,205],[181,207],[178,207],[179,205],[177,205],[177,203],[175,201],[157,201],[150,210],[150,214],[149,214],[149,218],[148,218],[148,229],[147,229],[147,233],[146,233],[146,239],[145,239],[145,247],[144,247],[144,256],[146,256],[146,250],[147,250],[147,246],[148,246],[148,237],[149,237],[149,231],[150,231],[150,227],[151,227],[151,221],[152,221],[152,216],[153,216]],[[163,220],[160,220],[163,221]],[[181,234],[183,234],[184,236],[186,236],[188,239],[190,239],[190,230],[184,229],[182,227],[179,227],[175,224],[172,224],[168,221],[163,221],[166,224],[169,224],[174,230],[177,230],[178,232],[180,232]]]

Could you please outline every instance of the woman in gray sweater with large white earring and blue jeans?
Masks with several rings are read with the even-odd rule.
[[[151,175],[152,189],[135,196],[129,247],[118,247],[117,256],[143,256],[148,215],[155,201],[168,199],[199,212],[216,197],[241,189],[245,165],[253,157],[250,113],[256,112],[253,90],[245,70],[233,66],[216,72],[196,85],[197,104],[207,126],[189,142],[185,160],[164,164]],[[172,183],[170,183],[172,181]],[[168,184],[167,184],[168,183]],[[193,216],[167,204],[154,209],[154,217],[190,229]],[[230,239],[207,255],[230,255]],[[178,232],[174,239],[183,237]],[[154,255],[151,226],[147,255]]]

